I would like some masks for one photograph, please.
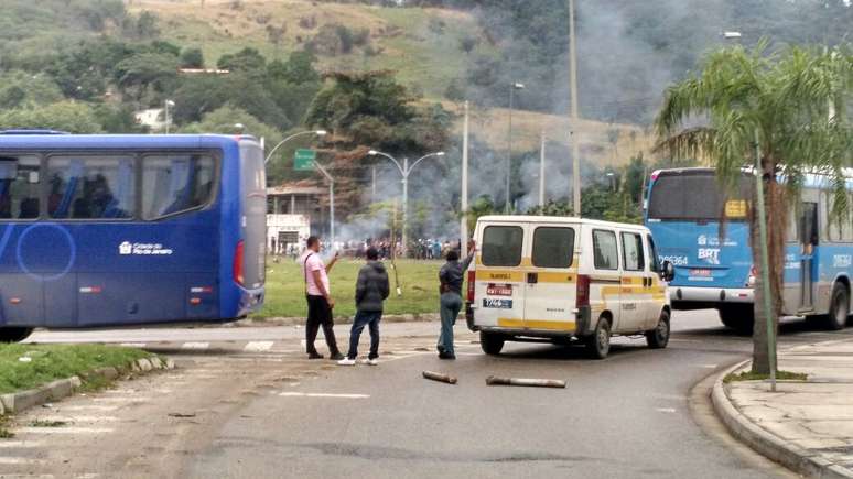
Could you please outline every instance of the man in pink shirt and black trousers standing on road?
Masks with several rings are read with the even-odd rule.
[[[307,239],[307,250],[301,259],[302,277],[305,280],[305,298],[307,300],[309,314],[305,320],[305,350],[309,359],[323,359],[323,355],[317,352],[314,347],[314,340],[317,338],[320,327],[323,327],[323,336],[328,346],[330,359],[339,360],[344,356],[337,349],[335,340],[335,330],[332,309],[335,307],[335,300],[332,298],[328,287],[328,272],[337,262],[338,253],[328,264],[323,264],[320,258],[320,238],[311,236]]]

